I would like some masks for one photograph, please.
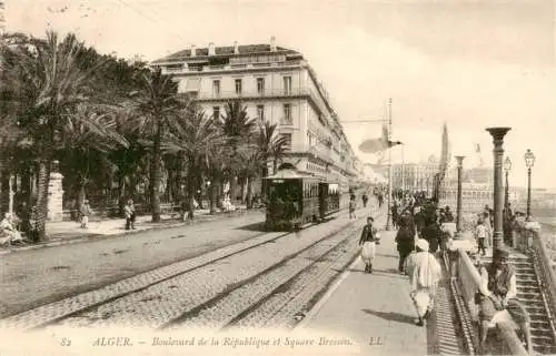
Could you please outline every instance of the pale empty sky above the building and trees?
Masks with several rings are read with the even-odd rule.
[[[73,31],[100,52],[155,60],[196,44],[269,43],[301,52],[358,156],[391,98],[394,162],[439,156],[443,124],[464,166],[493,164],[489,126],[510,126],[510,185],[556,187],[556,6],[530,1],[6,0],[8,31]],[[351,122],[350,122],[351,121]]]

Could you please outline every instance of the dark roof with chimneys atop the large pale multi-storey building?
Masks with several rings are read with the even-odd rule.
[[[238,52],[239,53],[234,53],[234,45],[226,45],[226,47],[215,47],[215,55],[221,55],[221,57],[234,57],[234,55],[246,55],[246,54],[255,54],[255,53],[280,53],[280,54],[299,54],[301,53],[284,48],[284,47],[276,47],[276,51],[270,51],[270,44],[245,44],[245,45],[238,45]],[[152,61],[153,64],[156,63],[168,63],[168,62],[182,62],[187,61],[188,59],[192,58],[207,58],[208,55],[208,48],[198,48],[195,51],[196,55],[191,57],[191,49],[187,50],[181,50],[179,52],[172,53],[170,55],[163,57],[161,59]]]

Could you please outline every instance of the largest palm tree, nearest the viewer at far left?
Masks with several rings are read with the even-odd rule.
[[[32,45],[19,49],[13,68],[20,81],[20,124],[39,154],[37,228],[39,240],[46,238],[48,183],[54,152],[62,145],[63,128],[76,108],[91,96],[89,78],[100,62],[83,70],[78,58],[85,50],[75,34],[59,41],[58,34],[47,32],[44,41],[31,40]],[[83,119],[83,124],[88,124]]]

